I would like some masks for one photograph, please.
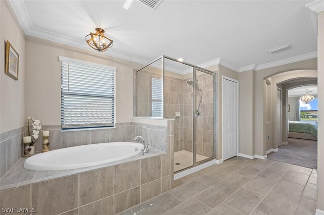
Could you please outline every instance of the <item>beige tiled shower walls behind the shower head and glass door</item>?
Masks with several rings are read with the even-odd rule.
[[[213,111],[214,92],[213,76],[204,74],[197,77],[198,85],[203,90],[201,113],[197,118],[197,153],[207,157],[213,151]],[[177,79],[165,77],[165,118],[175,119],[174,151],[186,150],[192,152],[192,85],[187,83],[191,79]],[[196,109],[199,104],[197,91]],[[181,117],[175,117],[180,112]],[[216,116],[216,115],[215,115]],[[216,126],[215,126],[216,129]]]

